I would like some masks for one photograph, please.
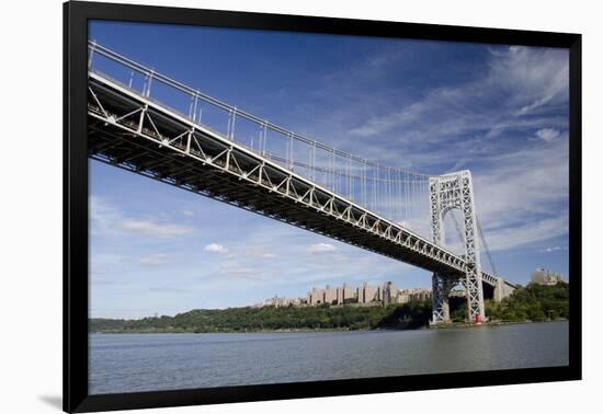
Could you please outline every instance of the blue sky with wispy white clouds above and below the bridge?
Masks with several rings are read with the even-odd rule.
[[[429,174],[470,170],[499,274],[525,284],[543,266],[568,278],[567,50],[110,22],[89,36],[343,151]],[[92,317],[343,281],[430,286],[424,271],[95,161],[90,205]]]

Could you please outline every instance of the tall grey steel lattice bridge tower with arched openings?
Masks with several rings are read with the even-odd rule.
[[[471,173],[467,170],[430,177],[431,231],[435,244],[444,245],[444,217],[452,209],[463,216],[463,240],[465,245],[465,276],[434,273],[432,276],[432,324],[451,320],[448,295],[462,283],[467,295],[469,321],[485,320],[483,290],[481,288],[481,265],[479,261],[478,223],[474,202]]]

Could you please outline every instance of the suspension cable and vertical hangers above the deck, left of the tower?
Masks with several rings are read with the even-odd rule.
[[[89,42],[89,70],[237,141],[282,166],[430,238],[429,175],[309,139]]]

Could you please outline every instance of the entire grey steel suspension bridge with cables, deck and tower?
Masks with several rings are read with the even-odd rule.
[[[429,271],[434,324],[450,321],[458,284],[476,323],[485,321],[485,292],[501,300],[513,290],[497,275],[469,171],[426,175],[372,162],[94,42],[88,49],[90,158]],[[446,245],[445,217],[460,252]]]

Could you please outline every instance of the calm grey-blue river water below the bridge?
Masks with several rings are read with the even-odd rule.
[[[568,364],[568,322],[420,331],[91,334],[90,393]]]

